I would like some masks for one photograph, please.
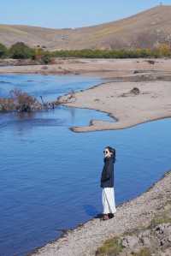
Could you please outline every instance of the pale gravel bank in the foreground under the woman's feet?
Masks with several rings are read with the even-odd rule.
[[[126,235],[126,232],[131,234],[138,229],[147,229],[152,221],[162,216],[170,207],[170,186],[171,172],[168,172],[147,192],[118,206],[113,219],[103,222],[93,218],[74,230],[68,230],[57,241],[52,241],[29,255],[95,255],[97,248],[107,239]]]

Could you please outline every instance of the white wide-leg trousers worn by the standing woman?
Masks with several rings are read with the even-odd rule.
[[[115,192],[114,188],[103,188],[102,191],[103,214],[115,213]]]

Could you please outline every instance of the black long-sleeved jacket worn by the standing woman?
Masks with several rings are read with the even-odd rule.
[[[114,163],[115,156],[104,158],[103,171],[101,176],[101,188],[114,187]]]

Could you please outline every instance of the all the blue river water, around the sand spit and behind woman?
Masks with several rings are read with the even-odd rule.
[[[77,75],[0,75],[0,97],[15,87],[54,99],[102,80]],[[0,255],[26,255],[102,211],[103,147],[114,146],[116,204],[133,199],[170,169],[171,120],[76,134],[104,113],[59,106],[0,115]]]

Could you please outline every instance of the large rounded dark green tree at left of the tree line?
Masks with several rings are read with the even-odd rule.
[[[14,59],[27,59],[34,55],[34,50],[22,42],[12,45],[9,49],[9,57]]]

